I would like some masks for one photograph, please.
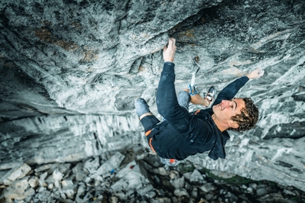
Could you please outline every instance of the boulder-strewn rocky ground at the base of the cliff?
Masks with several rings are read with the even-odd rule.
[[[0,179],[0,202],[305,202],[305,192],[275,182],[165,167],[143,146],[74,163],[21,163]]]

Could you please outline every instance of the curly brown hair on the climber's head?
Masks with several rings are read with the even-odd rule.
[[[243,98],[243,100],[245,101],[245,108],[242,108],[240,114],[231,117],[233,121],[238,123],[239,127],[230,127],[228,130],[244,132],[245,130],[253,129],[255,127],[260,114],[257,105],[253,103],[251,98]]]

